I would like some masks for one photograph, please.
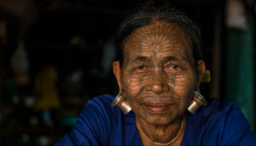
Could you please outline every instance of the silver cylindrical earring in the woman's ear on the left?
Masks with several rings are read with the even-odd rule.
[[[131,105],[126,101],[124,93],[119,93],[111,104],[112,106],[118,106],[124,114],[127,114],[131,111]]]

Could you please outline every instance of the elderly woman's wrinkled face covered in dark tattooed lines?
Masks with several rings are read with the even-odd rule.
[[[165,125],[183,115],[195,91],[189,37],[177,25],[156,22],[125,40],[121,84],[138,117]]]

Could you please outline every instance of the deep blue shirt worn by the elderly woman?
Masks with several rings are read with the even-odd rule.
[[[90,99],[72,132],[55,146],[142,146],[135,114],[131,111],[124,115],[111,106],[112,101],[108,94]],[[181,145],[256,146],[256,138],[237,104],[212,98],[194,115],[188,112]]]

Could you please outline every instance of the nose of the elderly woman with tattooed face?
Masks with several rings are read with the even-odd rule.
[[[150,90],[153,93],[162,93],[167,91],[168,86],[161,69],[154,70],[150,78]]]

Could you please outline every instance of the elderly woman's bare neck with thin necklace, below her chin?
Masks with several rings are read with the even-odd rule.
[[[137,130],[143,145],[172,145],[179,141],[181,143],[185,127],[186,116],[166,126],[152,125],[141,118],[136,118]],[[179,139],[179,140],[178,140]]]

